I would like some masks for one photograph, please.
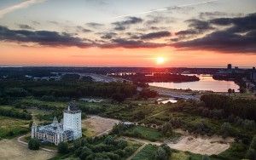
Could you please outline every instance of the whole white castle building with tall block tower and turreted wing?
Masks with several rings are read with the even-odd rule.
[[[56,117],[49,125],[37,126],[33,123],[31,137],[49,141],[55,145],[61,141],[76,140],[82,137],[81,111],[74,103],[70,103],[67,110],[63,111],[63,121],[61,120],[60,123]]]

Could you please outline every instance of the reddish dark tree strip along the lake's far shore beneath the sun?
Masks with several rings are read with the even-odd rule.
[[[183,82],[194,82],[199,81],[199,77],[196,76],[187,76],[181,74],[172,74],[172,73],[153,73],[152,75],[146,75],[143,73],[136,74],[124,74],[116,75],[115,77],[125,78],[131,80],[132,82],[140,83],[161,83],[161,82],[174,82],[174,83],[183,83]]]

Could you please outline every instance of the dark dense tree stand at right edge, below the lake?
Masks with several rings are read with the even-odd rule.
[[[235,115],[243,119],[256,120],[256,100],[232,99],[219,94],[204,94],[201,100],[211,110],[223,110],[225,117]]]

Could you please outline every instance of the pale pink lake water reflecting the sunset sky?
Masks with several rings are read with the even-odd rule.
[[[191,74],[189,76],[192,76]],[[214,80],[211,75],[195,75],[200,81],[188,83],[148,83],[150,86],[167,89],[192,89],[192,90],[212,90],[213,92],[227,92],[228,89],[235,89],[239,92],[239,86],[233,81]]]

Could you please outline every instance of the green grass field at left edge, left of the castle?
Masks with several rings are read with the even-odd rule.
[[[0,116],[0,138],[12,138],[29,131],[30,121]]]

